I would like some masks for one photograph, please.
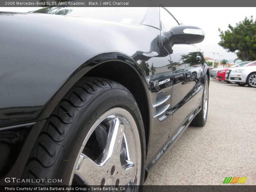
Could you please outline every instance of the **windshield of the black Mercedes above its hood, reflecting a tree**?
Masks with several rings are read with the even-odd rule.
[[[147,7],[45,7],[33,12],[141,24],[146,11]]]

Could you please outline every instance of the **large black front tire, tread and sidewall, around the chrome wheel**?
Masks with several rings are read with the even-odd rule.
[[[129,111],[138,127],[141,146],[138,184],[142,185],[146,144],[138,104],[123,85],[95,77],[81,78],[56,106],[32,148],[22,178],[62,179],[62,183],[40,184],[68,185],[76,157],[90,128],[103,113],[114,107]]]

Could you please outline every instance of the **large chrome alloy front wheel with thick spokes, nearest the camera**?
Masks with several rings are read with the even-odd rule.
[[[85,137],[70,184],[139,185],[140,174],[141,146],[137,125],[127,110],[112,108],[92,125]]]

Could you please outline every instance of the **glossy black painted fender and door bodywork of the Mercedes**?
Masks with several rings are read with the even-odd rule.
[[[159,16],[158,12],[153,15]],[[145,127],[146,163],[148,170],[154,167],[173,136],[181,127],[185,130],[191,114],[201,108],[208,67],[193,45],[164,47],[165,31],[156,26],[157,22],[153,26],[149,16],[146,21],[129,25],[63,15],[0,12],[0,131],[46,119],[79,78],[104,63],[118,62],[138,76],[139,82],[131,79],[126,84],[143,86],[138,92],[143,92],[147,103],[140,106],[145,108],[149,124]],[[153,118],[161,106],[153,108],[152,104],[162,95],[170,95],[162,104],[170,107]]]

